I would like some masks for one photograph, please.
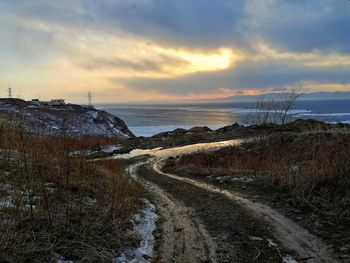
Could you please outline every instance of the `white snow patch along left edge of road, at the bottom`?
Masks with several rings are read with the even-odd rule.
[[[147,258],[152,258],[154,236],[153,231],[156,229],[156,221],[158,219],[155,213],[155,206],[145,200],[145,207],[142,214],[136,214],[132,218],[134,225],[132,235],[140,238],[138,248],[127,248],[119,257],[115,259],[115,263],[148,263]]]

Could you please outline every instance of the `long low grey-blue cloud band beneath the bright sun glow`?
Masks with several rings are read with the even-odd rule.
[[[350,83],[350,68],[310,68],[280,61],[246,61],[233,69],[190,75],[175,80],[134,78],[112,81],[137,90],[152,88],[159,92],[184,95],[189,91],[206,92],[215,88],[283,89],[301,80],[312,80],[317,83]]]

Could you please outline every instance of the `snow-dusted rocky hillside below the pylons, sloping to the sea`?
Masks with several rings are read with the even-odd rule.
[[[0,99],[0,116],[22,124],[29,131],[49,135],[134,137],[120,118],[75,104],[50,106],[20,99]]]

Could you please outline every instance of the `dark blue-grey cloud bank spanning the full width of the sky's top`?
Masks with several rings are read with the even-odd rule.
[[[83,30],[124,30],[187,47],[350,52],[347,0],[13,0],[3,13]]]

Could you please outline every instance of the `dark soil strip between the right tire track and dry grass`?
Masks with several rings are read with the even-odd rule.
[[[174,164],[174,160],[167,160],[164,171],[213,185],[222,191],[235,192],[254,203],[267,205],[307,229],[315,237],[324,240],[326,250],[333,251],[334,258],[337,258],[339,262],[350,262],[350,225],[337,224],[327,214],[316,213],[312,207],[305,205],[305,203],[296,201],[295,198],[286,193],[266,186],[263,187],[257,181],[222,181],[215,179],[214,174],[203,176],[195,172],[184,173],[183,169],[179,173]],[[222,174],[220,176],[222,178]]]

